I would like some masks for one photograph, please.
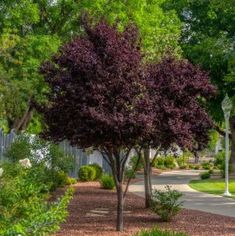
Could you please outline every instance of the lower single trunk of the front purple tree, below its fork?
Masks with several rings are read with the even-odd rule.
[[[122,183],[118,183],[117,189],[117,231],[123,231],[123,207],[124,207],[124,197],[123,197],[123,186]]]

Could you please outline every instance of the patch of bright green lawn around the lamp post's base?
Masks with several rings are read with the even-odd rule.
[[[200,192],[221,195],[224,193],[224,179],[191,180],[189,186]],[[229,191],[235,198],[235,180],[230,180]]]

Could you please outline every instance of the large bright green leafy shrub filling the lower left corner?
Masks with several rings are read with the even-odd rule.
[[[10,164],[11,170],[9,163],[3,165],[0,179],[0,235],[51,235],[67,215],[73,190],[68,189],[61,200],[50,204],[42,169]]]

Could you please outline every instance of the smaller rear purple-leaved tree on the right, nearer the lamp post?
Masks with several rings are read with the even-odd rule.
[[[147,66],[145,73],[154,123],[142,142],[148,148],[167,150],[178,145],[197,152],[206,147],[208,131],[213,127],[203,101],[215,94],[209,76],[186,60],[172,57]],[[141,145],[140,145],[141,146]],[[148,149],[145,158],[145,205],[151,200],[151,163]]]

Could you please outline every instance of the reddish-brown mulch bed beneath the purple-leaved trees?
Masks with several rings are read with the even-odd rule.
[[[183,209],[172,222],[164,223],[144,208],[143,198],[131,193],[127,195],[125,203],[125,231],[118,233],[115,231],[115,191],[101,189],[96,182],[78,183],[75,189],[67,221],[55,236],[126,236],[154,226],[186,232],[189,236],[235,236],[235,218]]]

